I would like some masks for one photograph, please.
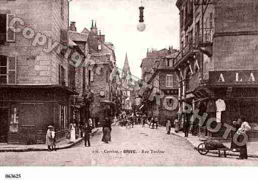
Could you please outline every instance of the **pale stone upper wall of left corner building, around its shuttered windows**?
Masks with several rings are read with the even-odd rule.
[[[1,1],[1,14],[16,14],[16,17],[24,20],[23,29],[30,27],[37,32],[52,37],[60,42],[61,29],[68,26],[68,6],[64,1],[64,19],[61,19],[60,0],[16,0]],[[0,54],[5,56],[17,56],[17,84],[58,84],[58,65],[61,63],[67,72],[67,60],[63,60],[56,53],[44,53],[43,48],[47,42],[33,47],[32,39],[26,39],[22,33],[16,34],[15,43],[5,43],[0,46]],[[66,73],[66,82],[67,82]]]

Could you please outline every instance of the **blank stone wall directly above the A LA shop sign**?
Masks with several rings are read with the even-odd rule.
[[[258,2],[215,4],[214,70],[258,68]]]

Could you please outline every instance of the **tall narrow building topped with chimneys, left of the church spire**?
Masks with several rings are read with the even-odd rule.
[[[92,22],[91,31],[84,28],[81,33],[89,34],[91,58],[87,62],[87,84],[94,94],[94,101],[90,104],[90,116],[100,122],[104,117],[116,115],[117,94],[114,92],[118,91],[114,91],[114,78],[117,78],[114,46],[105,42],[105,35],[98,33],[96,22],[95,25]]]

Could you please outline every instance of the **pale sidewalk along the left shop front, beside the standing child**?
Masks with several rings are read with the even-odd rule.
[[[100,128],[94,128],[92,131],[92,136],[100,132]],[[75,142],[70,143],[69,139],[61,139],[56,143],[56,149],[66,149],[75,146],[80,143],[83,138],[78,137]],[[33,145],[24,145],[24,144],[0,144],[0,152],[28,152],[28,151],[47,151],[46,144],[33,144]]]

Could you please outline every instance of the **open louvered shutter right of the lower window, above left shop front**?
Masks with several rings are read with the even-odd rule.
[[[16,56],[8,56],[8,76],[7,82],[8,84],[16,84],[17,81],[17,57]]]

